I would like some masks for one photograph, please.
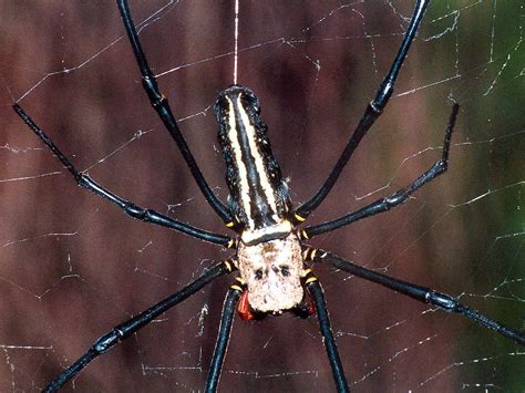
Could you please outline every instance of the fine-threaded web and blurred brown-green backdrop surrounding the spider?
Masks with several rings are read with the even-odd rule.
[[[146,2],[144,2],[146,3]],[[184,135],[225,200],[210,106],[233,81],[233,1],[132,1]],[[4,1],[0,49],[0,391],[42,389],[113,325],[229,252],[140,223],[75,187],[10,110],[17,101],[79,168],[141,206],[227,232],[145,97],[113,1]],[[259,96],[292,199],[321,184],[388,71],[412,1],[240,2],[239,82]],[[320,223],[450,170],[411,200],[311,244],[451,293],[525,329],[524,6],[434,1],[389,106]],[[357,391],[525,389],[509,340],[361,279],[317,268]],[[69,390],[198,391],[231,277],[90,364]],[[315,318],[234,324],[223,391],[331,391]]]

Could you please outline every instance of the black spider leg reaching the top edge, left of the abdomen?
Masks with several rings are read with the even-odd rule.
[[[155,75],[150,69],[144,51],[142,50],[141,41],[138,40],[138,34],[136,33],[135,24],[133,23],[127,1],[117,0],[117,4],[121,11],[122,19],[124,20],[124,25],[126,28],[130,43],[133,48],[133,52],[135,53],[138,68],[141,69],[142,84],[147,93],[147,97],[150,99],[152,106],[158,113],[158,116],[163,121],[165,127],[167,128],[169,134],[172,134],[172,137],[175,139],[178,149],[181,151],[184,159],[186,161],[189,170],[192,170],[192,175],[195,178],[195,182],[197,183],[198,187],[200,188],[200,192],[204,194],[208,204],[220,216],[225,224],[230,224],[230,213],[217,198],[217,196],[212,192],[209,185],[206,183],[203,173],[198,168],[197,163],[195,162],[195,158],[192,152],[189,151],[186,139],[184,139],[184,136],[181,133],[181,130],[178,128],[175,116],[173,115],[173,112],[169,108],[167,99],[158,90]]]

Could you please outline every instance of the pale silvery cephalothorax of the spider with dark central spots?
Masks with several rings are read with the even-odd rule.
[[[256,312],[280,313],[302,301],[301,246],[295,234],[253,246],[240,242],[237,265]]]

